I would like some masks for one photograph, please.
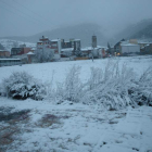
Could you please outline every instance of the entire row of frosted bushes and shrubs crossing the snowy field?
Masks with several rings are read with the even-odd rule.
[[[80,66],[73,65],[62,83],[45,85],[25,72],[14,72],[2,83],[3,94],[14,99],[49,99],[97,104],[107,110],[119,110],[128,105],[152,105],[152,66],[137,76],[134,68],[118,60],[107,60],[105,67],[90,67],[87,81],[80,80]],[[53,75],[52,75],[53,78]],[[53,79],[52,79],[53,81]]]

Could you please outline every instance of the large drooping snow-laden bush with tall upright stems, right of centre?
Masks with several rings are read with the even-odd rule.
[[[103,76],[100,75],[99,81],[93,83],[93,88],[81,98],[83,103],[99,104],[99,106],[107,110],[118,110],[136,104],[128,96],[128,89],[134,84],[135,78],[131,68],[128,68],[125,64],[119,68],[118,62],[111,63],[110,61],[104,72],[100,71]],[[93,75],[99,75],[99,69],[96,69]],[[90,86],[90,81],[88,85]]]

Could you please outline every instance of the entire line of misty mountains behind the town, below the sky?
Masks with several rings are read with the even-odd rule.
[[[152,18],[142,20],[136,24],[124,27],[122,31],[117,30],[116,34],[109,35],[102,26],[93,23],[84,23],[71,26],[64,26],[52,30],[46,30],[27,37],[1,37],[2,39],[11,39],[23,42],[37,42],[41,36],[49,37],[50,39],[65,39],[76,38],[81,40],[81,47],[91,46],[91,36],[96,35],[99,46],[106,46],[107,42],[115,45],[121,39],[144,39],[152,40]],[[0,38],[0,39],[1,39]]]

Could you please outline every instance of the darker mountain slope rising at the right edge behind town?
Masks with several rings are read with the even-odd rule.
[[[115,36],[115,39],[148,39],[152,40],[152,20],[143,20],[131,25]]]

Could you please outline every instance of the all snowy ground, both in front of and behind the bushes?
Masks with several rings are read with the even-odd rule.
[[[69,67],[81,67],[86,81],[90,67],[105,68],[109,59],[52,62],[0,67],[0,83],[12,72],[25,71],[53,86],[62,83]],[[152,56],[114,58],[132,67],[140,76],[152,66]],[[10,107],[10,109],[9,109]],[[1,112],[29,110],[21,117],[0,121],[0,151],[8,152],[152,152],[152,107],[127,107],[106,111],[97,105],[68,101],[54,104],[51,100],[25,101],[0,98]],[[1,117],[0,117],[1,118]]]

